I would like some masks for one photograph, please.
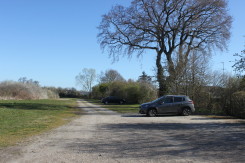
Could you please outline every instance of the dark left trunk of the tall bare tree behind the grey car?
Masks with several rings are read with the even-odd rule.
[[[158,81],[158,96],[166,95],[167,90],[167,83],[164,78],[164,70],[161,64],[162,52],[157,52],[157,59],[156,59],[156,66],[157,66],[157,81]]]

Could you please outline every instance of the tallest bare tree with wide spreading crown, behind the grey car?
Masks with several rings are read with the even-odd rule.
[[[231,22],[226,0],[133,0],[129,7],[117,5],[103,15],[98,40],[114,60],[120,54],[140,56],[154,50],[159,95],[163,95],[167,84],[162,59],[173,78],[191,51],[224,49]],[[174,56],[178,56],[176,64]]]

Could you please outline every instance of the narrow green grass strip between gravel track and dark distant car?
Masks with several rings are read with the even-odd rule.
[[[108,105],[104,105],[99,100],[88,99],[87,101],[90,103],[96,104],[96,105],[100,105],[103,108],[107,108],[109,110],[116,111],[118,113],[138,113],[139,112],[139,104],[123,104],[123,105],[108,104]]]

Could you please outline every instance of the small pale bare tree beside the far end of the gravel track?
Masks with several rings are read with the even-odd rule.
[[[93,83],[96,80],[95,69],[84,68],[81,73],[76,76],[77,84],[81,85],[84,91],[92,92]]]

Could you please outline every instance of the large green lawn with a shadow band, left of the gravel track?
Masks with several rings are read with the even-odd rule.
[[[0,147],[69,122],[76,100],[0,100]]]

